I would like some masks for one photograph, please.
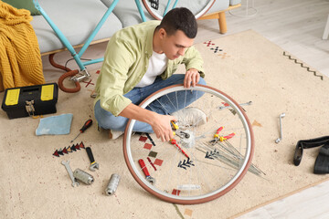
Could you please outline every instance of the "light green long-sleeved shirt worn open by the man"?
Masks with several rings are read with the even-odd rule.
[[[118,116],[132,101],[123,97],[143,78],[149,58],[153,53],[155,27],[160,21],[147,21],[136,26],[128,26],[115,33],[106,48],[101,74],[97,79],[95,103],[101,99],[101,108]],[[183,57],[167,62],[161,75],[166,79],[175,73],[179,64],[186,69],[196,68],[203,73],[203,60],[195,47],[186,48]]]

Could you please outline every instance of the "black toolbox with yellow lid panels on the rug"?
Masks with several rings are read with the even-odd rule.
[[[5,89],[1,108],[9,119],[55,113],[58,101],[57,83]]]

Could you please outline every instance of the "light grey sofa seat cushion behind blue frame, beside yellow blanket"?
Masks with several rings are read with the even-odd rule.
[[[39,0],[38,2],[73,46],[86,41],[107,10],[99,0]],[[65,48],[43,16],[33,16],[31,25],[36,32],[41,53]],[[111,13],[93,40],[111,37],[120,29],[122,29],[120,20]]]

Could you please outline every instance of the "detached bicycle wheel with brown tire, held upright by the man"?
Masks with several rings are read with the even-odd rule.
[[[203,110],[207,123],[189,124],[178,117],[177,145],[162,142],[154,133],[133,135],[135,120],[129,120],[123,138],[124,159],[133,178],[144,190],[169,203],[205,203],[228,193],[248,171],[253,154],[253,132],[245,112],[218,89],[174,85],[155,92],[140,106],[151,110],[160,106],[166,111],[166,104],[172,104],[183,109],[189,104],[188,95],[196,99],[188,108]],[[223,139],[210,142],[217,131]],[[146,168],[141,168],[141,159]],[[146,180],[146,169],[155,183]]]

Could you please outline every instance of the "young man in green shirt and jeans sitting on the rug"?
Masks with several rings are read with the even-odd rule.
[[[169,11],[161,23],[129,26],[111,37],[97,80],[94,109],[99,126],[110,130],[110,138],[122,134],[129,119],[137,120],[134,131],[154,132],[162,141],[174,137],[170,121],[176,118],[169,115],[174,110],[155,112],[137,105],[170,85],[206,84],[200,78],[204,77],[203,60],[192,47],[196,32],[195,16],[181,7]],[[179,64],[185,64],[185,75],[173,75]]]

